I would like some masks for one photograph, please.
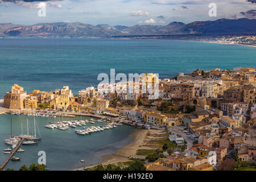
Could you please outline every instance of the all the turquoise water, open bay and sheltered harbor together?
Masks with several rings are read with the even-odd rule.
[[[15,83],[28,93],[34,89],[51,91],[69,85],[77,94],[88,86],[97,86],[98,74],[110,74],[111,68],[115,68],[116,74],[150,72],[168,78],[179,72],[191,73],[197,68],[255,66],[256,48],[246,46],[174,40],[0,39],[0,98]],[[7,158],[3,150],[7,147],[4,139],[10,137],[10,118],[13,118],[14,135],[20,135],[21,122],[26,133],[26,116],[0,115],[0,163]],[[28,118],[32,127],[33,117]],[[112,154],[131,142],[129,136],[138,130],[122,125],[80,136],[73,129],[46,129],[47,118],[44,117],[36,117],[36,122],[42,141],[38,146],[22,146],[26,151],[15,154],[22,160],[10,161],[6,168],[19,169],[23,164],[37,163],[40,150],[46,151],[51,170],[96,164],[101,161],[100,156]],[[86,164],[80,163],[81,159],[85,159]]]

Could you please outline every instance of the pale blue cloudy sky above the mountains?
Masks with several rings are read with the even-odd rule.
[[[214,8],[210,3],[216,5],[216,16],[209,15]],[[43,9],[45,16],[39,16]],[[133,26],[221,18],[256,19],[256,0],[0,0],[0,23]]]

